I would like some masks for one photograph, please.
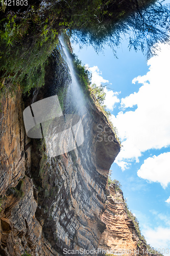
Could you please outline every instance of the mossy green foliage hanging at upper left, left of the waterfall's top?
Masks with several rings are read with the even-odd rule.
[[[58,42],[58,32],[47,22],[33,9],[26,17],[9,14],[1,20],[1,83],[6,93],[9,83],[11,91],[20,83],[24,93],[43,86],[47,58]]]

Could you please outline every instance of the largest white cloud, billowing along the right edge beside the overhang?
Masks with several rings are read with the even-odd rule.
[[[138,162],[142,152],[170,145],[169,58],[169,47],[162,45],[159,55],[148,61],[149,72],[133,79],[133,83],[142,83],[139,91],[121,101],[124,110],[134,105],[137,109],[112,115],[124,146],[115,160],[119,166],[124,162],[122,169],[127,168],[126,162]]]

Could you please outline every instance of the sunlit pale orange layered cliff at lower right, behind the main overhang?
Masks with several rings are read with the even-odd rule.
[[[123,255],[147,255],[146,244],[128,216],[122,190],[114,184],[107,190],[106,210],[101,220],[106,224],[106,229],[101,235],[100,248]]]

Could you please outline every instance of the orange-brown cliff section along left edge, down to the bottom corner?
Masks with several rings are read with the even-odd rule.
[[[21,255],[28,249],[43,255],[42,226],[35,218],[34,185],[26,176],[31,168],[31,147],[23,126],[20,91],[13,98],[4,98],[2,106],[0,253]]]

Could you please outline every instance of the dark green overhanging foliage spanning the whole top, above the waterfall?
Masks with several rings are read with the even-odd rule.
[[[65,1],[43,6],[42,1],[30,3],[25,11],[9,11],[5,5],[0,22],[0,72],[3,90],[21,84],[23,92],[44,84],[48,56],[64,29],[82,44],[91,44],[96,51],[107,44],[113,48],[129,33],[129,47],[144,51],[158,42],[168,41],[169,6],[153,0]],[[152,6],[147,6],[151,4]],[[145,8],[146,7],[146,8]],[[149,17],[149,18],[148,18]],[[88,71],[75,58],[79,79],[88,88]],[[5,79],[5,80],[4,80]],[[9,91],[10,91],[9,90]],[[96,90],[97,91],[97,90]],[[101,93],[101,92],[98,92]],[[99,100],[102,100],[102,98]]]

